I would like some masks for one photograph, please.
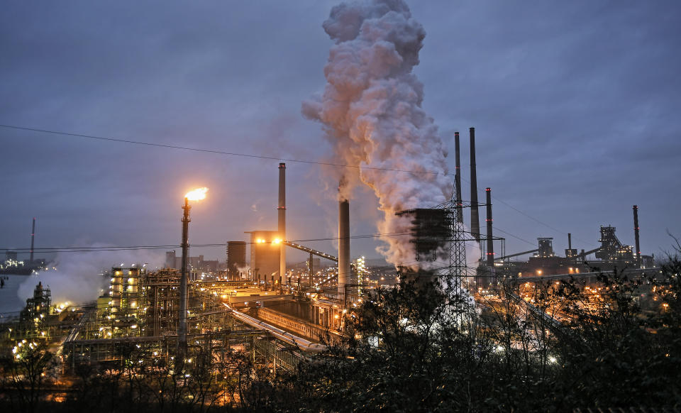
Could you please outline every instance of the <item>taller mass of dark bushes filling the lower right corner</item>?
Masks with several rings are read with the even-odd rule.
[[[602,275],[536,294],[533,316],[512,300],[457,312],[452,298],[403,283],[348,321],[348,338],[304,363],[300,395],[280,410],[516,411],[681,406],[681,263],[658,277]],[[641,294],[659,305],[642,309]],[[650,307],[650,306],[648,306]]]

